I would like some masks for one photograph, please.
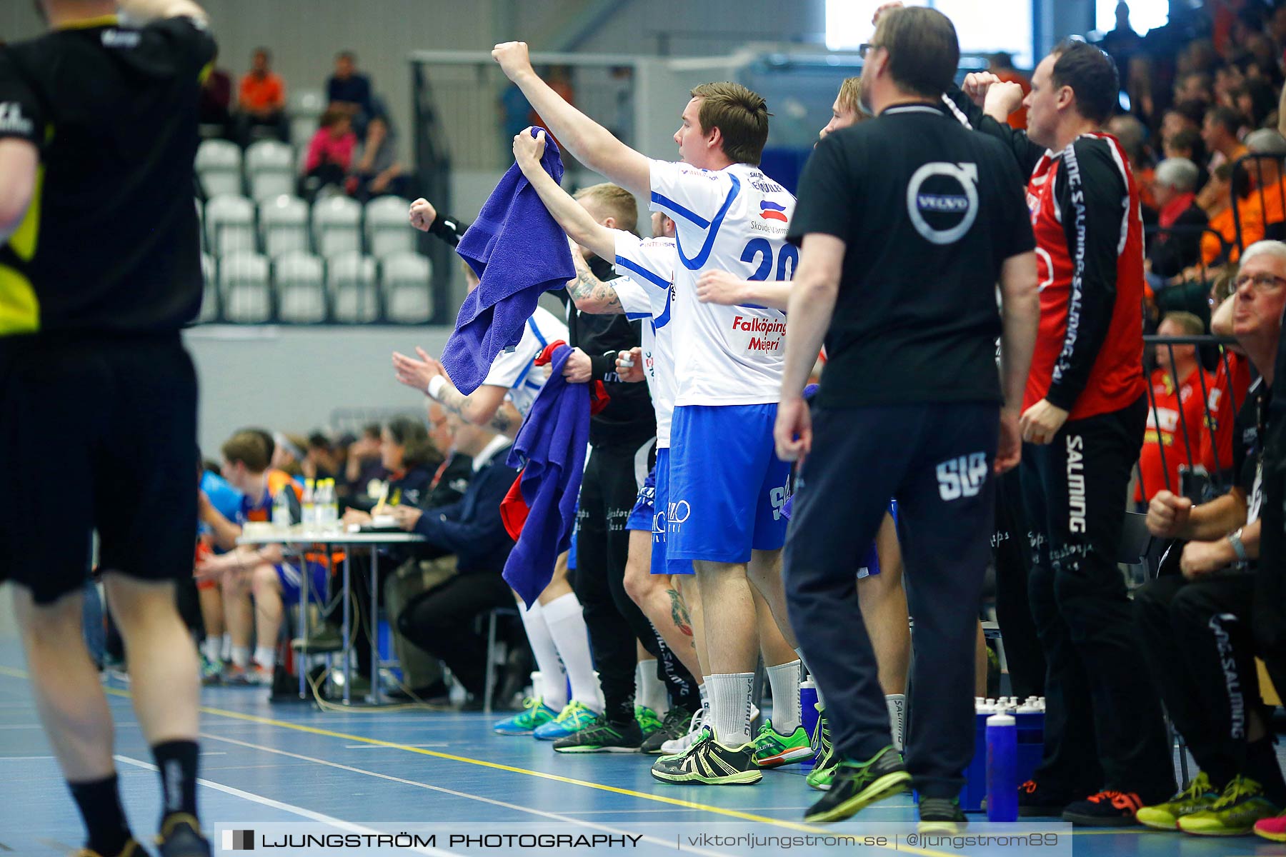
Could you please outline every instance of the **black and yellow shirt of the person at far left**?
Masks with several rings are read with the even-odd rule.
[[[201,308],[193,161],[215,41],[189,18],[96,18],[0,48],[0,139],[40,152],[0,248],[0,342],[174,331]]]

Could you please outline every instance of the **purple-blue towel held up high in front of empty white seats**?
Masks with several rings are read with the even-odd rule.
[[[532,135],[535,136],[535,135]],[[558,145],[545,135],[540,164],[562,181]],[[442,366],[468,396],[486,378],[496,355],[522,339],[540,296],[576,276],[567,236],[517,164],[500,179],[455,252],[482,283],[464,298]]]

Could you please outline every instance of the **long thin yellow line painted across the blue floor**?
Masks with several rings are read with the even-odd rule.
[[[13,678],[27,678],[28,677],[27,673],[23,672],[23,671],[12,669],[9,667],[3,667],[3,666],[0,666],[0,675],[10,676]],[[113,696],[126,696],[127,698],[130,695],[129,693],[126,693],[123,690],[116,690],[113,687],[104,687],[103,690],[107,691],[108,694],[113,695]],[[410,747],[408,744],[399,744],[396,741],[385,741],[385,740],[381,740],[378,738],[367,738],[364,735],[351,735],[349,732],[336,732],[336,731],[328,730],[328,729],[319,729],[316,726],[305,726],[302,723],[291,723],[291,722],[287,722],[287,721],[273,720],[270,717],[260,717],[257,714],[244,714],[242,712],[226,711],[226,709],[222,709],[222,708],[210,708],[210,707],[206,707],[206,705],[202,705],[199,708],[199,711],[203,714],[211,714],[211,716],[215,716],[215,717],[226,717],[229,720],[239,720],[239,721],[244,721],[244,722],[249,722],[249,723],[258,723],[261,726],[274,726],[274,727],[278,727],[278,729],[285,729],[285,730],[291,730],[291,731],[294,731],[294,732],[305,732],[305,734],[309,734],[309,735],[320,735],[323,738],[336,738],[336,739],[342,739],[342,740],[346,740],[346,741],[358,741],[358,743],[361,743],[361,744],[369,744],[372,747],[385,747],[385,748],[390,748],[390,749],[403,750],[403,752],[406,752],[406,753],[417,753],[419,755],[428,755],[428,757],[432,757],[432,758],[446,759],[449,762],[463,762],[466,764],[476,764],[478,767],[494,768],[496,771],[508,771],[511,773],[522,773],[522,775],[526,775],[526,776],[534,776],[534,777],[543,779],[543,780],[553,780],[554,782],[566,782],[568,785],[577,785],[577,786],[581,786],[581,788],[585,788],[585,789],[597,789],[599,791],[608,791],[608,793],[612,793],[612,794],[621,794],[621,795],[630,797],[630,798],[639,798],[642,800],[652,800],[655,803],[665,803],[665,804],[670,804],[670,806],[674,806],[674,807],[683,807],[684,809],[701,809],[703,812],[710,812],[710,813],[714,813],[714,815],[727,816],[727,817],[730,817],[730,818],[739,818],[742,821],[754,821],[756,824],[765,824],[765,825],[770,825],[770,826],[774,826],[774,827],[782,827],[782,829],[786,829],[786,830],[796,830],[796,831],[801,831],[801,833],[822,834],[822,835],[832,835],[832,836],[842,836],[842,835],[858,835],[858,836],[860,836],[860,835],[863,835],[863,834],[856,833],[856,831],[849,833],[849,831],[837,830],[835,827],[820,827],[820,826],[817,826],[817,825],[806,825],[806,824],[800,824],[800,822],[796,822],[796,821],[787,821],[784,818],[772,818],[769,816],[759,816],[759,815],[755,815],[755,813],[751,813],[751,812],[742,812],[739,809],[728,809],[725,807],[712,807],[712,806],[709,806],[709,804],[705,804],[705,803],[694,803],[692,800],[680,800],[679,798],[667,798],[665,795],[649,794],[647,791],[634,791],[633,789],[621,789],[619,786],[604,785],[602,782],[593,782],[593,781],[589,781],[589,780],[577,780],[577,779],[574,779],[574,777],[559,776],[557,773],[545,773],[544,771],[530,771],[527,768],[513,767],[511,764],[500,764],[499,762],[487,762],[486,759],[475,759],[475,758],[469,758],[467,755],[454,755],[451,753],[439,753],[436,750],[424,749],[422,747]],[[1112,831],[1088,831],[1087,830],[1087,831],[1073,831],[1073,833],[1074,834],[1075,833],[1091,834],[1091,833],[1112,833]],[[1121,830],[1119,830],[1119,833],[1145,833],[1145,831],[1141,831],[1138,829],[1121,829]],[[889,848],[889,851],[892,851],[892,848]],[[909,853],[909,854],[923,854],[926,857],[952,857],[952,856],[946,854],[945,852],[927,851],[927,849],[921,849],[921,848],[912,848],[910,845],[907,845],[907,844],[900,844],[896,848],[896,851],[905,852],[905,853]]]

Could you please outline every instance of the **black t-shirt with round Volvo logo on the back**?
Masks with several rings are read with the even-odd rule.
[[[846,244],[818,405],[1001,401],[997,283],[1035,247],[1024,185],[997,140],[928,104],[818,144],[788,235]]]

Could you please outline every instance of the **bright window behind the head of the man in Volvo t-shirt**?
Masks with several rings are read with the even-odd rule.
[[[1163,0],[1164,1],[1164,0]],[[871,17],[883,0],[826,0],[826,46],[855,50],[871,40]],[[955,24],[966,54],[1013,54],[1013,64],[1031,68],[1031,0],[912,0],[934,6]]]

